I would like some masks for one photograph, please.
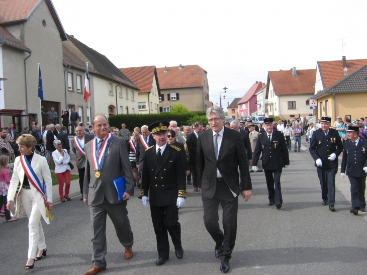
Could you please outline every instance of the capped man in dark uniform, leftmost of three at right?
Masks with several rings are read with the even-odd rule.
[[[288,147],[283,133],[273,129],[273,118],[264,118],[265,133],[257,137],[252,159],[252,170],[257,170],[261,156],[262,169],[265,173],[269,206],[282,208],[281,175],[283,167],[289,165]],[[275,187],[275,188],[274,188]]]

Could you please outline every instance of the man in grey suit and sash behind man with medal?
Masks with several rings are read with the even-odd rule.
[[[81,126],[75,127],[76,137],[71,141],[71,150],[76,155],[76,167],[79,173],[79,187],[81,199],[83,200],[83,183],[85,174],[85,144],[93,139],[93,135],[84,134],[84,130]]]

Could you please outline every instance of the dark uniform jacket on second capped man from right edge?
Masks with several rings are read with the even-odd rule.
[[[341,143],[340,136],[337,130],[329,129],[328,138],[326,138],[325,132],[320,128],[312,134],[310,143],[310,154],[315,160],[321,159],[322,168],[337,168],[338,167],[338,156],[343,151],[343,144]],[[331,161],[327,158],[331,154],[336,154],[336,158]]]

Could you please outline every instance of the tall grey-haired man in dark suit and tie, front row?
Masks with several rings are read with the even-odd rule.
[[[196,147],[196,174],[204,206],[204,225],[214,239],[215,256],[220,257],[222,272],[229,270],[229,259],[237,234],[238,196],[251,197],[251,178],[241,134],[224,127],[222,108],[207,110],[210,125],[199,134]],[[239,182],[238,168],[241,174]],[[223,209],[223,231],[219,227],[218,207]]]

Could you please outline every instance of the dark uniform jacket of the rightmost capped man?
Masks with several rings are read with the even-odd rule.
[[[366,176],[363,167],[367,167],[367,139],[359,138],[357,147],[354,148],[351,140],[346,140],[343,143],[344,151],[341,160],[341,173],[350,176],[362,177]]]

